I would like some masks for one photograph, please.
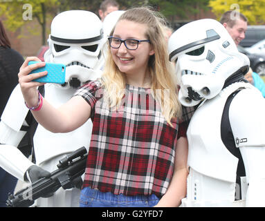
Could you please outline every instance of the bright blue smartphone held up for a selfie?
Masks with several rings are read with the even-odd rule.
[[[38,63],[39,61],[29,61],[28,65]],[[33,81],[42,82],[42,83],[55,83],[55,84],[64,84],[65,83],[65,65],[56,64],[56,63],[47,63],[46,66],[42,68],[37,68],[33,70],[30,74],[39,73],[42,71],[47,71],[48,74],[44,77],[39,77]]]

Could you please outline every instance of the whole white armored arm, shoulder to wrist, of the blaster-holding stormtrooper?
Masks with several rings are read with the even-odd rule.
[[[33,163],[28,160],[17,146],[26,134],[20,131],[26,124],[28,108],[24,104],[24,97],[19,84],[14,88],[8,99],[6,108],[1,115],[0,122],[0,166],[19,180],[24,180],[24,173]]]

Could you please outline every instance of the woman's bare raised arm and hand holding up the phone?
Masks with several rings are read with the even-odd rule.
[[[28,57],[19,70],[19,84],[26,105],[32,110],[33,116],[39,124],[53,133],[66,133],[82,126],[90,117],[91,107],[80,96],[72,97],[60,108],[54,108],[44,98],[40,97],[37,87],[44,85],[33,81],[47,75],[47,72],[28,75],[32,70],[45,66],[44,62],[28,66],[28,61],[40,61],[37,57]],[[37,108],[36,108],[37,107]]]

